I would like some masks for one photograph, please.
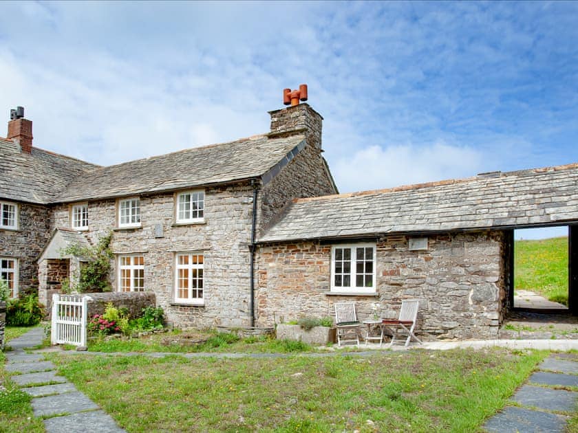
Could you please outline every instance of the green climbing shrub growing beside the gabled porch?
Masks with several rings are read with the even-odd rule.
[[[112,232],[100,238],[94,246],[70,245],[63,254],[89,260],[81,267],[78,291],[110,291],[109,272],[114,254],[110,249]]]

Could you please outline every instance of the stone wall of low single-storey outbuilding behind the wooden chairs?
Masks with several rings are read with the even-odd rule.
[[[396,318],[401,300],[420,300],[418,332],[431,337],[496,337],[504,288],[502,232],[429,236],[425,251],[410,251],[407,236],[376,243],[376,295],[334,296],[331,245],[263,245],[257,263],[257,324],[334,314],[334,302],[356,302],[358,318]]]

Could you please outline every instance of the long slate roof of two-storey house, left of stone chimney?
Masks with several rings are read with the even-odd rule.
[[[126,197],[260,177],[279,163],[288,162],[303,147],[304,140],[304,135],[256,135],[97,168],[74,179],[53,201]]]

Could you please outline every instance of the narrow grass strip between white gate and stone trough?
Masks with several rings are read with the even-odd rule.
[[[235,352],[235,353],[290,353],[312,351],[312,347],[303,342],[291,340],[275,340],[270,337],[248,337],[239,339],[230,333],[205,333],[198,337],[208,338],[206,342],[193,346],[185,344],[162,344],[162,340],[179,340],[180,331],[147,335],[140,338],[123,338],[111,340],[92,340],[88,344],[91,352],[169,352],[169,353],[199,353],[199,352]]]

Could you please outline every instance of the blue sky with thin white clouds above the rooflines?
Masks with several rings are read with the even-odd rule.
[[[561,1],[3,2],[0,112],[116,164],[266,132],[306,82],[341,192],[567,164],[576,23]]]

